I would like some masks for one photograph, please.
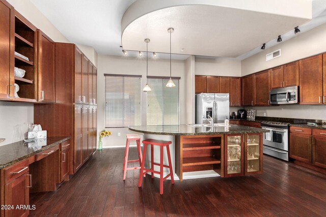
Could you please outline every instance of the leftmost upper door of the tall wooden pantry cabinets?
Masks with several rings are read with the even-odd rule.
[[[83,103],[82,97],[82,61],[83,53],[75,46],[75,103]]]

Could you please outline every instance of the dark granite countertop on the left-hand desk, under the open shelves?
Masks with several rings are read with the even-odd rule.
[[[28,159],[29,157],[47,150],[53,146],[56,146],[64,141],[67,141],[70,137],[47,137],[46,141],[42,143],[25,143],[24,141],[14,142],[8,145],[0,146],[0,169],[8,167],[19,161]],[[43,139],[41,139],[43,140]],[[46,144],[44,146],[41,146]]]

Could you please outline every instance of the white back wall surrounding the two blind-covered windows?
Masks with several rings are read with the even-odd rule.
[[[170,64],[168,59],[149,58],[148,75],[152,76],[169,76]],[[186,100],[188,93],[186,91],[185,78],[185,61],[172,60],[172,76],[181,77],[180,79],[180,123],[186,123]],[[125,56],[108,56],[98,55],[98,132],[104,129],[104,75],[103,74],[129,74],[142,75],[142,87],[146,84],[146,57],[125,57]],[[146,125],[146,92],[142,92],[142,125]],[[109,128],[112,136],[103,140],[103,146],[124,146],[126,134],[130,134],[126,128]],[[118,133],[121,136],[118,137]]]

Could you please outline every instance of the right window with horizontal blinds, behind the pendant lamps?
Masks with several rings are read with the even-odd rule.
[[[172,78],[175,87],[166,87],[169,77],[148,76],[152,91],[147,92],[147,125],[179,125],[179,81]]]

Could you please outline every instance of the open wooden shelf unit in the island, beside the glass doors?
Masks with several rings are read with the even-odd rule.
[[[223,176],[223,135],[176,136],[175,172],[183,180],[187,172],[214,170]]]

